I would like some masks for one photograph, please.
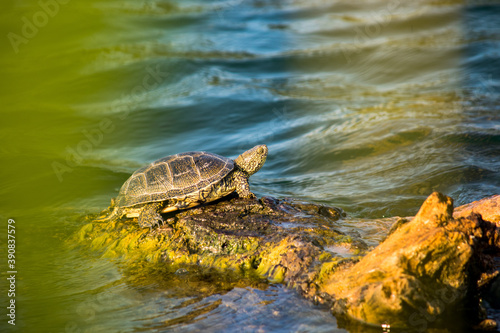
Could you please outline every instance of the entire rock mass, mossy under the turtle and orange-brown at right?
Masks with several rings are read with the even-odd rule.
[[[433,193],[368,254],[359,233],[341,231],[341,209],[271,197],[165,216],[153,232],[131,220],[91,221],[75,238],[105,256],[173,272],[195,265],[284,283],[339,318],[419,330],[457,311],[485,319],[479,293],[498,275],[492,255],[500,249],[498,228],[479,215],[485,205],[471,215],[458,209],[454,218],[452,200]]]

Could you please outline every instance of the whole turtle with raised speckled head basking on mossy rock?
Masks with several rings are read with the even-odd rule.
[[[167,156],[136,170],[111,200],[109,215],[96,221],[138,218],[139,226],[152,229],[163,224],[162,213],[188,209],[236,191],[241,198],[255,198],[248,178],[267,158],[266,145],[245,151],[235,160],[204,151]]]

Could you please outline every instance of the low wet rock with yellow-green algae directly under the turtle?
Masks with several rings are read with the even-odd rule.
[[[353,254],[367,248],[338,230],[336,221],[344,215],[338,208],[290,199],[232,198],[165,216],[166,223],[152,232],[122,219],[90,222],[75,237],[105,256],[229,269],[314,297],[320,264],[349,260],[337,258],[329,246],[348,244]]]

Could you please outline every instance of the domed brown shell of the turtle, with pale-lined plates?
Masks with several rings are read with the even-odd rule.
[[[203,151],[167,156],[135,171],[116,204],[130,207],[184,197],[219,182],[233,169],[233,160]]]

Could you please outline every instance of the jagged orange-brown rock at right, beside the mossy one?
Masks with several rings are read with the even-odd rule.
[[[480,215],[455,220],[453,201],[431,194],[415,218],[351,268],[320,286],[336,299],[332,310],[368,324],[425,330],[474,302],[491,261],[496,226]],[[497,244],[498,245],[498,244]],[[456,313],[455,313],[456,315]]]

